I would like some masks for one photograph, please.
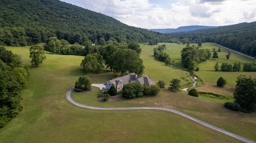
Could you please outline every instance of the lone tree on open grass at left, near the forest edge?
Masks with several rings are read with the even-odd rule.
[[[32,59],[30,61],[32,66],[38,67],[46,59],[44,55],[44,48],[41,46],[33,45],[29,48],[29,57]]]

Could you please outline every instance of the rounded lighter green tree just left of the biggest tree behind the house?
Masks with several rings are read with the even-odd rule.
[[[102,55],[96,53],[88,54],[84,57],[80,66],[83,67],[86,72],[96,72],[104,69],[102,61]]]

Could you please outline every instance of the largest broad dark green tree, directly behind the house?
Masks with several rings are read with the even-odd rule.
[[[121,72],[122,76],[126,72],[135,72],[138,75],[144,72],[142,59],[132,49],[118,49],[109,58],[110,67],[113,68],[114,72]]]

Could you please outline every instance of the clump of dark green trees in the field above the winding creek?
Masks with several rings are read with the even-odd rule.
[[[196,49],[194,47],[185,47],[181,51],[181,63],[184,68],[194,70],[198,63],[206,61],[211,56],[208,49]]]

